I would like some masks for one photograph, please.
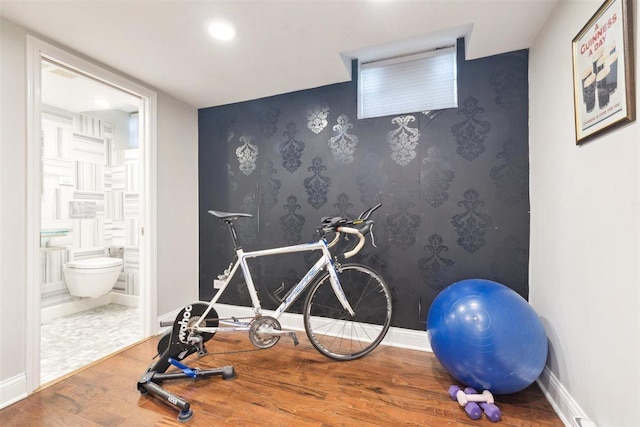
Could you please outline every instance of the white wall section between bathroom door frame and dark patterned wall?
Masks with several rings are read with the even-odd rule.
[[[198,113],[158,94],[158,314],[198,301]]]

